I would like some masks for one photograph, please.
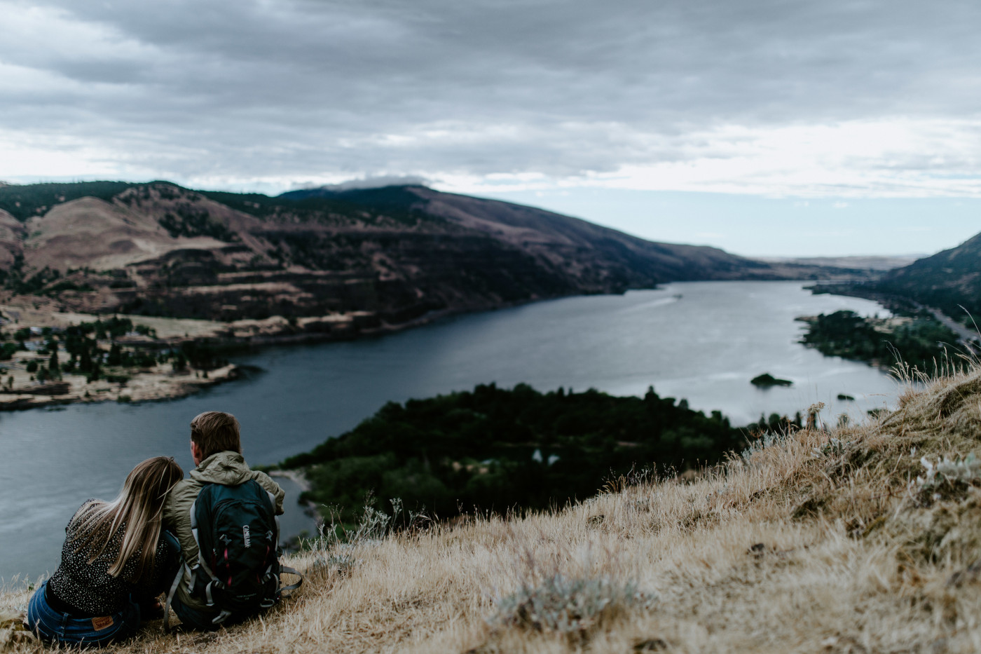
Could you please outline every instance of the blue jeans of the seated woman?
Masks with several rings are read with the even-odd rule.
[[[27,604],[27,626],[44,640],[82,647],[101,647],[128,638],[139,628],[139,605],[129,600],[117,614],[103,618],[73,618],[55,611],[44,596],[45,581]]]

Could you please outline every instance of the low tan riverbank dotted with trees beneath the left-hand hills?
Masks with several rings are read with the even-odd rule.
[[[429,324],[449,314],[434,311],[398,324],[382,322],[369,311],[218,322],[125,314],[108,318],[37,304],[0,304],[0,411],[174,400],[241,377],[237,366],[224,362],[216,353],[381,336]],[[111,321],[127,325],[130,331],[109,333]],[[71,335],[66,334],[78,331],[79,326],[88,329],[82,340],[92,337],[86,354],[94,363],[79,367],[77,353],[69,353],[71,365],[65,354],[60,362],[52,362],[53,352],[69,347],[66,341]],[[114,348],[121,360],[115,361],[115,366],[106,365],[114,362]],[[186,360],[182,353],[187,352],[205,353],[206,357],[195,360],[191,354]],[[126,362],[131,364],[120,365]]]

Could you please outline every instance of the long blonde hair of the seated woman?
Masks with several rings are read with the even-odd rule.
[[[137,553],[132,580],[152,572],[164,500],[182,478],[181,466],[171,457],[154,457],[137,463],[115,500],[93,500],[78,510],[73,518],[71,536],[76,544],[75,551],[84,551],[88,563],[94,563],[106,551],[120,527],[126,525],[120,553],[109,567],[109,573],[119,576],[129,558]]]

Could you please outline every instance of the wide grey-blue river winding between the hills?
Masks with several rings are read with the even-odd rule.
[[[798,344],[799,315],[849,308],[797,282],[691,282],[623,296],[549,300],[471,314],[382,338],[270,348],[236,362],[262,372],[173,402],[73,405],[0,413],[0,577],[57,567],[65,524],[86,498],[109,499],[134,463],[169,455],[188,470],[188,422],[220,409],[242,424],[245,458],[276,463],[350,429],[388,401],[476,384],[643,395],[648,386],[721,409],[733,424],[815,402],[834,420],[890,406],[897,385],[869,366]],[[791,388],[760,390],[770,372]],[[854,402],[839,402],[839,393]],[[287,485],[285,532],[309,528]]]

